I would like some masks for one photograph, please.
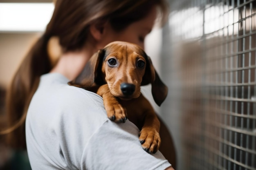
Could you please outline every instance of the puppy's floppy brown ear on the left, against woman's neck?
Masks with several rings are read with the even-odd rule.
[[[104,80],[102,79],[100,70],[104,55],[104,49],[101,49],[97,53],[94,53],[94,55],[92,55],[90,60],[86,63],[83,71],[79,74],[79,76],[77,76],[71,82],[68,82],[68,84],[81,88],[89,88],[94,82],[102,83]]]

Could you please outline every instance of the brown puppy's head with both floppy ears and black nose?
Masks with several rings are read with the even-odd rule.
[[[160,80],[150,57],[136,44],[112,42],[95,53],[72,86],[90,88],[93,84],[108,84],[110,92],[120,99],[137,98],[140,86],[152,84],[152,95],[161,105],[167,95],[167,87]]]

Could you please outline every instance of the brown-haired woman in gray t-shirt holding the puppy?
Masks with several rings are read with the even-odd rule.
[[[134,124],[110,121],[101,97],[67,85],[109,42],[144,47],[157,11],[164,21],[166,7],[164,0],[57,0],[45,33],[22,62],[8,97],[10,122],[20,120],[17,126],[22,125],[9,142],[26,146],[26,118],[33,169],[173,169],[160,152],[150,155],[141,148]],[[53,37],[62,49],[56,64],[47,52]]]

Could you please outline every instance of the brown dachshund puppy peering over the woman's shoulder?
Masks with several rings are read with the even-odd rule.
[[[160,146],[160,123],[153,107],[141,94],[140,86],[152,84],[152,94],[160,106],[167,87],[159,79],[150,58],[137,45],[112,42],[95,53],[72,86],[85,88],[103,97],[108,118],[125,122],[127,117],[137,125],[139,140],[149,153]]]

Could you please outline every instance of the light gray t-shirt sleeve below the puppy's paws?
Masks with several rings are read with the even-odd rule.
[[[130,121],[107,120],[83,150],[82,170],[164,170],[171,166],[158,151],[148,154],[139,142],[139,129]]]

